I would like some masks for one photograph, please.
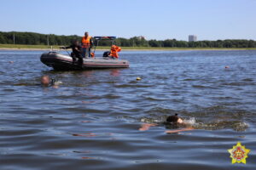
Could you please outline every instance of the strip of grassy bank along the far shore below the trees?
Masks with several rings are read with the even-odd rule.
[[[47,45],[20,45],[20,44],[0,44],[0,49],[20,49],[20,50],[49,50]],[[59,49],[59,46],[52,46]],[[97,49],[108,50],[110,47],[97,47]],[[122,47],[124,50],[256,50],[256,48],[147,48],[147,47]]]

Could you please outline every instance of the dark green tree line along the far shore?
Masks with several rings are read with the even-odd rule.
[[[14,38],[15,37],[15,38]],[[0,31],[0,44],[26,44],[26,45],[68,45],[73,40],[80,40],[82,37],[57,36],[55,34],[39,34],[34,32],[3,32]],[[111,42],[100,41],[99,46],[109,46]],[[121,47],[161,47],[161,48],[256,48],[256,41],[253,40],[217,40],[187,42],[176,39],[146,40],[144,37],[119,37],[116,44]]]

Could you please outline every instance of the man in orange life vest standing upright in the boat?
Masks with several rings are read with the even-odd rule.
[[[92,37],[89,36],[89,33],[86,31],[84,37],[82,37],[82,56],[83,58],[90,57],[90,48],[93,46]]]

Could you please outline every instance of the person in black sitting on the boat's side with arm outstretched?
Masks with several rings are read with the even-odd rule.
[[[73,64],[79,59],[79,65],[83,65],[83,57],[82,57],[82,51],[81,51],[81,46],[79,45],[79,41],[75,40],[70,46],[67,47],[60,47],[62,49],[67,49],[67,48],[72,48],[72,53],[71,57],[73,59]]]

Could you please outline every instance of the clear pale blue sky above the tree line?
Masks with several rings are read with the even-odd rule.
[[[256,0],[1,0],[0,31],[256,40]]]

